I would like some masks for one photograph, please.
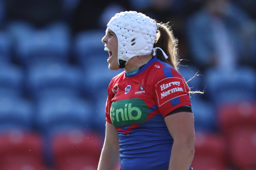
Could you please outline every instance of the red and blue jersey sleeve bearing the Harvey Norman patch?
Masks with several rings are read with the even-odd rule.
[[[164,68],[155,85],[156,103],[165,117],[176,108],[189,105],[189,88],[184,78],[173,68]]]

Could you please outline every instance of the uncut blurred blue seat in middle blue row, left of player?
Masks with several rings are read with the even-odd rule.
[[[52,62],[30,66],[27,90],[34,99],[55,96],[79,96],[82,91],[82,72],[65,63]]]

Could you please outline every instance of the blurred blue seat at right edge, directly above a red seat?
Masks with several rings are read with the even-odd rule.
[[[217,107],[228,102],[256,100],[256,72],[248,66],[240,66],[231,72],[208,69],[204,75],[206,95]]]

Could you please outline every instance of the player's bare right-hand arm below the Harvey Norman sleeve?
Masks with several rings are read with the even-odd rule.
[[[179,112],[171,114],[166,116],[164,121],[174,139],[169,170],[188,170],[195,153],[193,113]]]

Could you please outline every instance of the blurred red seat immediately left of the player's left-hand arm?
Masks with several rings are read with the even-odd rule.
[[[92,131],[68,131],[52,138],[56,170],[96,170],[103,145]]]

